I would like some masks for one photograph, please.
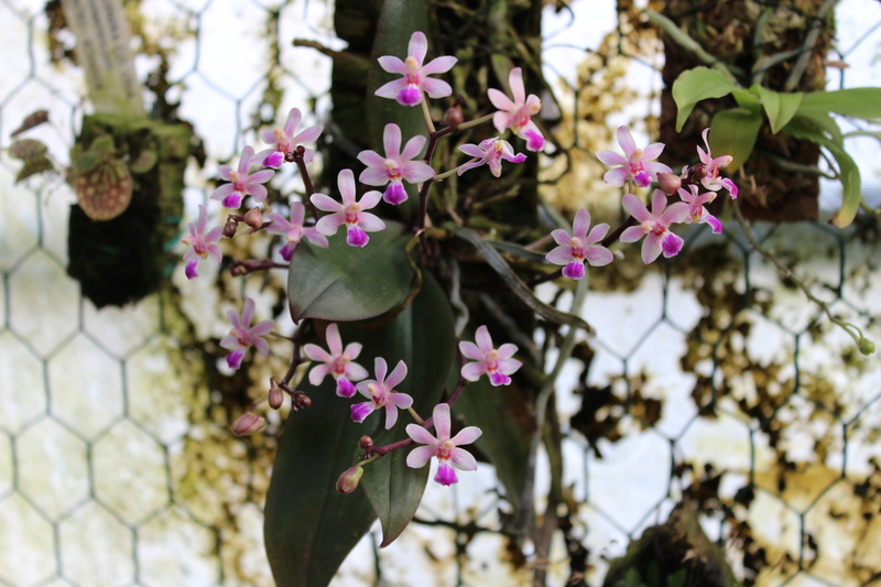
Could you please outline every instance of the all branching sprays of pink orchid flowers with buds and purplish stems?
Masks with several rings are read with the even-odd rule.
[[[297,133],[303,117],[298,109],[293,108],[283,128],[260,133],[261,139],[269,143],[269,148],[255,153],[252,146],[246,146],[236,170],[221,167],[221,177],[230,183],[219,186],[210,199],[222,203],[226,208],[232,210],[232,214],[229,215],[222,230],[219,227],[208,229],[207,209],[200,207],[198,221],[189,225],[189,236],[184,239],[188,246],[184,253],[187,278],[197,276],[196,267],[200,260],[220,261],[217,241],[221,232],[227,238],[233,238],[239,222],[250,226],[250,232],[265,229],[267,233],[276,236],[281,241],[278,253],[286,262],[295,259],[296,249],[304,239],[317,248],[331,246],[327,237],[335,235],[344,226],[348,246],[369,250],[371,243],[368,233],[387,229],[387,222],[368,210],[373,210],[380,200],[393,206],[404,203],[407,199],[404,182],[415,185],[418,189],[418,213],[413,220],[412,230],[424,239],[425,227],[432,226],[427,220],[427,203],[433,183],[444,181],[453,174],[461,175],[478,170],[483,165],[489,167],[491,175],[499,177],[503,171],[502,161],[511,164],[525,161],[526,155],[518,153],[504,138],[508,131],[522,141],[526,151],[542,152],[545,138],[532,120],[532,117],[541,111],[541,100],[535,95],[526,95],[523,73],[519,67],[512,68],[509,75],[511,96],[498,89],[488,90],[488,98],[497,108],[496,112],[472,121],[464,121],[457,110],[458,107],[454,106],[456,116],[450,116],[448,111],[443,121],[445,126],[435,130],[426,100],[449,97],[453,89],[446,81],[429,76],[447,73],[454,67],[456,58],[442,56],[424,64],[427,48],[426,36],[415,32],[410,40],[405,58],[396,56],[379,58],[383,69],[401,77],[381,86],[376,95],[393,99],[404,107],[422,106],[427,130],[427,139],[423,135],[405,138],[401,128],[390,122],[383,132],[384,153],[365,150],[358,154],[358,160],[366,165],[358,176],[360,184],[383,188],[382,193],[366,189],[361,191],[359,197],[355,172],[344,170],[337,181],[339,199],[333,195],[315,194],[306,166],[314,153],[303,143],[315,141],[322,132],[322,127],[312,127]],[[481,123],[491,123],[499,134],[479,144],[461,145],[460,151],[470,159],[453,170],[437,172],[433,167],[432,160],[438,140]],[[621,204],[630,218],[610,232],[607,224],[591,228],[589,211],[578,210],[575,214],[572,232],[564,228],[551,232],[556,246],[545,254],[545,260],[548,264],[562,265],[562,269],[548,271],[547,279],[562,276],[579,280],[585,275],[586,265],[603,267],[612,263],[616,256],[610,247],[617,240],[635,242],[644,239],[642,260],[648,264],[661,254],[670,258],[679,252],[683,239],[673,231],[678,224],[705,222],[714,232],[720,232],[722,229],[721,222],[710,215],[705,206],[711,203],[722,188],[727,189],[731,197],[736,197],[737,186],[719,175],[719,169],[727,165],[731,157],[726,155],[713,157],[706,143],[707,131],[704,132],[706,151],[700,146],[697,148],[700,163],[683,169],[678,175],[656,161],[664,149],[662,143],[639,149],[627,127],[620,127],[617,137],[623,154],[602,151],[597,153],[597,156],[611,167],[605,175],[606,182],[624,188]],[[306,198],[301,202],[294,197],[292,202],[285,203],[289,209],[287,217],[270,210],[267,216],[269,221],[263,222],[260,207],[265,203],[267,188],[262,184],[272,177],[274,174],[272,170],[278,170],[284,163],[296,165],[306,187]],[[252,166],[261,169],[252,172]],[[651,189],[650,206],[646,206],[635,192],[653,184],[657,187]],[[247,199],[248,196],[250,200]],[[250,204],[253,204],[250,211],[240,215],[241,206]],[[238,274],[242,274],[286,265],[273,261],[250,260],[237,261],[233,267]],[[227,362],[232,369],[240,367],[246,351],[251,346],[262,355],[268,352],[263,336],[269,334],[272,323],[260,322],[251,326],[253,315],[254,303],[250,298],[246,301],[241,315],[230,312],[232,328],[229,336],[220,344],[231,350]],[[309,360],[313,362],[308,372],[311,384],[318,385],[330,376],[336,382],[336,393],[340,398],[351,399],[360,394],[367,399],[350,405],[350,417],[354,422],[362,423],[380,409],[385,413],[387,430],[394,426],[399,411],[409,411],[414,420],[414,423],[406,425],[407,438],[385,446],[373,446],[371,439],[362,439],[363,459],[340,476],[338,490],[352,491],[361,479],[365,465],[390,452],[407,447],[414,442],[423,446],[412,449],[406,458],[406,465],[414,468],[423,467],[435,457],[438,461],[435,481],[448,486],[458,481],[454,467],[463,471],[477,468],[474,456],[459,446],[470,444],[481,435],[480,428],[476,426],[467,426],[453,435],[450,406],[456,403],[467,383],[486,376],[492,385],[509,385],[512,382],[511,377],[516,374],[523,365],[514,358],[519,350],[515,345],[505,343],[494,348],[486,325],[478,326],[474,331],[475,341],[460,340],[458,344],[461,362],[458,384],[446,401],[434,406],[433,415],[427,420],[422,420],[413,410],[414,402],[411,394],[395,389],[405,381],[407,365],[398,357],[391,357],[389,359],[396,362],[390,371],[387,359],[377,357],[373,365],[374,379],[369,379],[368,370],[356,362],[362,349],[361,344],[349,341],[344,347],[336,323],[329,324],[325,329],[326,348],[316,344],[301,345],[301,336],[297,334],[293,337],[294,358],[291,368],[280,381],[272,380],[271,390],[263,401],[268,400],[271,407],[278,409],[286,393],[292,398],[294,411],[307,407],[312,400],[293,389],[291,382],[297,367],[303,361]],[[298,333],[302,333],[302,329]],[[260,403],[262,401],[258,402]],[[263,418],[254,413],[254,407],[233,424],[232,431],[237,435],[253,433],[263,425]],[[434,434],[431,432],[432,428],[435,430]]]

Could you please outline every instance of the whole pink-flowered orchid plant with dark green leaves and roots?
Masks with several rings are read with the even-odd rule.
[[[447,178],[469,172],[469,176],[482,173],[491,181],[490,177],[500,177],[511,166],[527,160],[519,149],[525,149],[531,156],[541,154],[547,144],[537,118],[541,99],[526,94],[524,73],[521,67],[513,67],[507,79],[510,94],[488,90],[487,98],[494,111],[466,120],[457,100],[448,106],[443,120],[434,120],[428,100],[450,98],[453,88],[444,79],[431,76],[446,74],[457,59],[438,56],[425,63],[428,48],[427,36],[416,31],[410,37],[406,55],[380,57],[382,69],[401,77],[376,90],[376,96],[394,100],[402,109],[421,107],[426,122],[424,134],[406,135],[401,126],[388,122],[382,135],[384,152],[363,149],[357,159],[365,169],[341,171],[337,177],[338,195],[315,193],[308,164],[314,157],[311,143],[318,140],[322,127],[297,133],[303,116],[293,108],[283,128],[260,133],[268,143],[265,149],[257,152],[248,145],[236,170],[221,167],[220,175],[229,183],[220,185],[210,199],[231,210],[224,227],[209,229],[208,210],[202,207],[198,221],[189,226],[189,235],[183,239],[187,246],[184,261],[189,279],[198,276],[196,268],[202,260],[221,260],[217,244],[221,233],[231,239],[263,231],[276,243],[274,254],[280,261],[232,261],[233,274],[271,269],[289,271],[287,297],[296,323],[296,330],[290,337],[291,367],[281,379],[270,381],[263,400],[232,426],[237,435],[255,433],[265,423],[258,413],[262,403],[279,409],[285,398],[295,412],[289,420],[303,423],[292,424],[297,427],[283,438],[267,507],[268,537],[276,535],[274,524],[283,523],[289,511],[286,491],[292,488],[276,479],[290,479],[294,475],[292,464],[324,471],[320,475],[296,471],[297,476],[309,478],[323,478],[329,467],[342,464],[344,470],[335,471],[336,483],[328,481],[327,488],[336,485],[339,492],[352,493],[362,487],[372,509],[362,514],[357,498],[345,498],[352,501],[338,502],[338,507],[349,512],[346,515],[351,515],[352,524],[361,520],[359,517],[372,520],[372,515],[378,515],[383,544],[393,541],[421,503],[429,476],[425,466],[429,461],[436,461],[434,480],[442,486],[459,482],[454,468],[467,475],[479,466],[475,456],[460,446],[477,443],[480,449],[481,438],[487,435],[477,423],[464,422],[469,410],[458,410],[460,400],[466,404],[471,401],[469,398],[479,394],[500,393],[498,388],[530,387],[536,378],[541,379],[532,368],[524,369],[533,361],[529,352],[521,352],[510,341],[503,323],[472,324],[458,300],[464,285],[455,276],[457,259],[443,253],[438,257],[437,251],[445,243],[470,244],[501,281],[515,280],[523,285],[512,286],[512,292],[527,307],[548,320],[568,325],[574,333],[577,328],[588,328],[584,320],[542,303],[529,285],[556,280],[562,287],[574,286],[588,268],[599,269],[628,254],[628,249],[618,242],[644,239],[641,257],[645,264],[662,253],[665,258],[674,257],[683,246],[683,239],[675,233],[677,225],[704,222],[714,232],[721,231],[721,224],[705,206],[720,188],[732,197],[737,195],[733,183],[720,175],[730,157],[710,154],[706,132],[706,150],[697,146],[699,163],[693,170],[686,167],[674,174],[657,162],[663,154],[662,143],[639,148],[630,129],[620,127],[617,138],[623,153],[601,151],[597,156],[610,166],[606,182],[622,188],[621,206],[628,219],[614,230],[608,224],[591,228],[590,213],[580,209],[574,216],[572,232],[568,227],[550,228],[546,238],[537,241],[546,250],[542,253],[546,269],[524,285],[509,261],[489,244],[492,238],[489,232],[481,235],[478,227],[468,226],[467,219],[453,209],[448,219],[439,213],[429,213],[429,203],[434,197],[432,186]],[[461,144],[458,150],[467,159],[452,169],[438,169],[442,165],[435,157],[438,142],[480,126],[490,126],[498,134],[477,144]],[[508,164],[504,167],[503,161]],[[268,202],[263,184],[285,164],[296,166],[305,196]],[[483,165],[489,169],[481,170]],[[409,200],[404,182],[415,186],[416,203]],[[644,204],[646,196],[650,207]],[[401,206],[416,207],[409,225],[393,219],[395,207]],[[433,210],[436,209],[443,207],[435,206]],[[250,230],[240,232],[241,224]],[[345,236],[337,235],[344,226]],[[551,241],[555,246],[548,247]],[[227,363],[232,369],[242,367],[251,346],[263,356],[269,352],[264,337],[270,334],[272,322],[252,326],[254,315],[254,302],[250,298],[241,314],[229,313],[231,330],[220,346],[231,351]],[[472,340],[466,331],[472,333]],[[493,338],[502,343],[497,347]],[[366,365],[372,360],[373,379],[369,379],[370,373],[356,359]],[[306,363],[311,363],[309,369]],[[390,365],[394,366],[391,370]],[[357,395],[367,401],[352,403]],[[371,417],[374,411],[384,412],[384,417]],[[432,417],[423,418],[421,413]],[[309,417],[314,417],[314,425],[306,424]],[[541,427],[542,422],[537,422],[537,428]],[[301,428],[311,431],[312,436],[305,436],[305,432],[298,436]],[[325,441],[318,437],[326,438],[327,434],[331,434],[333,443],[323,444]],[[414,444],[422,446],[410,448]],[[487,450],[483,448],[479,454],[491,457],[491,450]],[[359,456],[352,457],[355,452]],[[303,454],[309,458],[301,460]],[[320,457],[317,461],[316,456]],[[390,485],[403,498],[390,500]],[[521,503],[521,508],[531,511],[531,496],[510,498],[512,503]],[[291,552],[290,546],[285,553]],[[290,570],[293,567],[284,556],[274,556],[270,551],[273,565]],[[276,576],[286,576],[289,570],[276,569]],[[298,570],[290,573],[296,575]]]

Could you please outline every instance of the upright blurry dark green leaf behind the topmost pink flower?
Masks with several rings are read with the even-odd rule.
[[[373,51],[370,61],[370,72],[367,77],[367,118],[370,129],[370,144],[373,150],[382,153],[382,132],[385,124],[394,122],[401,128],[402,148],[416,134],[428,137],[425,119],[421,106],[402,106],[395,100],[380,98],[373,93],[392,79],[400,78],[400,74],[390,74],[380,67],[379,57],[394,55],[402,61],[406,58],[410,36],[414,31],[427,31],[428,12],[425,0],[384,0],[377,25],[377,37],[373,41]],[[428,57],[433,53],[431,39],[428,41]],[[404,218],[416,215],[418,200],[413,184],[404,183],[409,195],[406,202],[399,206]]]

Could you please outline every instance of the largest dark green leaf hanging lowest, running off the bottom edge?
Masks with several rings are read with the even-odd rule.
[[[330,378],[302,389],[312,405],[287,416],[267,494],[263,535],[279,587],[326,586],[376,519],[363,492],[342,496],[335,485],[378,421],[354,423]]]

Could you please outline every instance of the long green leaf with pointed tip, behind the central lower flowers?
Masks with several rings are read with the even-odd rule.
[[[389,360],[389,369],[400,359],[406,362],[407,377],[399,390],[413,395],[413,409],[427,418],[440,399],[456,359],[456,335],[443,290],[429,273],[424,273],[424,278],[413,304],[387,327],[370,333],[367,343],[371,351],[376,349]],[[398,424],[374,436],[373,442],[385,445],[406,438],[407,423],[412,423],[410,415],[399,414]],[[410,450],[410,447],[394,450],[365,467],[361,487],[382,524],[381,547],[391,544],[410,524],[428,480],[427,465],[420,469],[406,466]]]

